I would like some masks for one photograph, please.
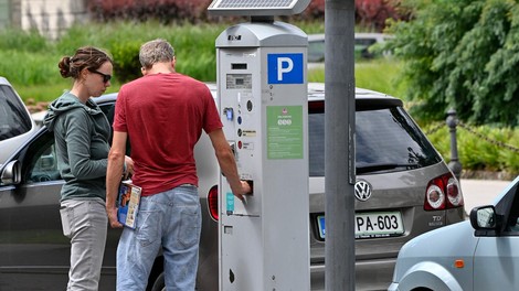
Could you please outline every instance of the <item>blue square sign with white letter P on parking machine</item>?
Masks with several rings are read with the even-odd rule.
[[[268,54],[268,84],[303,84],[303,54]]]

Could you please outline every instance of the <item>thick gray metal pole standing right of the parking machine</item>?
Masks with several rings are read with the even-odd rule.
[[[354,290],[354,1],[325,2],[326,290]]]

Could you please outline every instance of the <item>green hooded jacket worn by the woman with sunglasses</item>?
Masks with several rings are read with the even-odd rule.
[[[57,166],[65,180],[61,201],[106,197],[110,125],[91,99],[82,104],[64,93],[50,106],[43,123],[54,131]]]

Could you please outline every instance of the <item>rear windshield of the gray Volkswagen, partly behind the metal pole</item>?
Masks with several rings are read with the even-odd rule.
[[[324,176],[325,114],[310,112],[308,128],[310,176]],[[442,160],[402,107],[357,111],[356,139],[357,174],[409,171]]]

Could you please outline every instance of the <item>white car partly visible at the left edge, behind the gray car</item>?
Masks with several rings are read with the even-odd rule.
[[[36,130],[18,93],[0,76],[0,165]]]

